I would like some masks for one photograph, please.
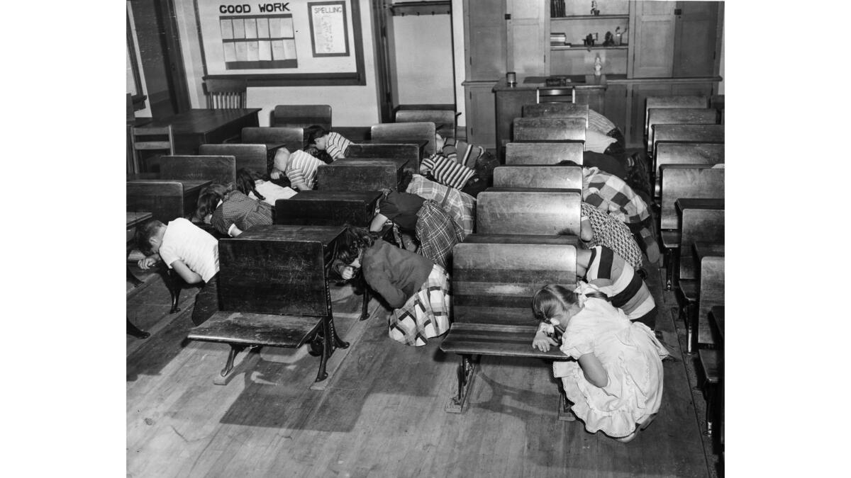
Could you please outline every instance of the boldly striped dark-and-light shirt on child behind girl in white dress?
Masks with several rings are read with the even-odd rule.
[[[653,310],[656,302],[647,284],[624,258],[605,246],[591,248],[585,281],[608,295],[612,305],[623,310],[631,321]]]

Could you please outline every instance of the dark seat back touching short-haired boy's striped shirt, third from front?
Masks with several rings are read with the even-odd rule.
[[[320,191],[396,191],[407,160],[344,157],[317,168]]]

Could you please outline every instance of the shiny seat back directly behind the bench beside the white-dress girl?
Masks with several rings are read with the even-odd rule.
[[[481,234],[580,235],[582,191],[488,188],[477,196]]]

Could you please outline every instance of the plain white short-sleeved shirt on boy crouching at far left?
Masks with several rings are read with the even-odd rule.
[[[180,260],[192,272],[208,282],[219,272],[219,242],[206,230],[188,219],[169,221],[159,249],[160,258],[168,269]]]

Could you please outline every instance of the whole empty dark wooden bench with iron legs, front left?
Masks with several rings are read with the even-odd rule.
[[[219,241],[220,311],[189,339],[231,345],[225,384],[237,353],[264,345],[310,343],[320,356],[316,381],[328,378],[328,357],[346,348],[334,328],[328,269],[342,226],[262,225]]]

